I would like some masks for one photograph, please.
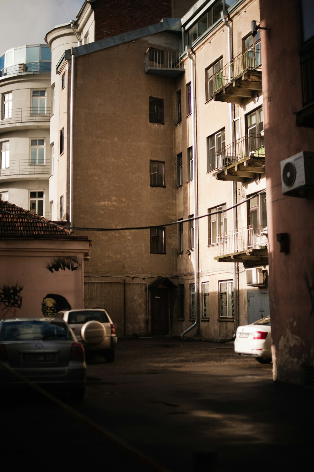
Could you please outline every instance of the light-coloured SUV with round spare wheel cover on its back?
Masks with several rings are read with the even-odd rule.
[[[70,325],[77,340],[83,344],[87,358],[100,354],[104,356],[106,362],[114,361],[114,349],[118,338],[106,310],[101,308],[62,310],[55,318],[61,318]]]

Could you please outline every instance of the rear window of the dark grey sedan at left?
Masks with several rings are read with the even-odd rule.
[[[1,341],[71,339],[68,327],[45,320],[9,321],[2,324]]]

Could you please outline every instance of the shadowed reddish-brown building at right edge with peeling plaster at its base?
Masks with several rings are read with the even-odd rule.
[[[260,8],[274,379],[304,383],[314,370],[314,5]]]

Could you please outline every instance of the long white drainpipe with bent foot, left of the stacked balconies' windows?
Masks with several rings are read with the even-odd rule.
[[[195,159],[195,92],[194,92],[194,59],[192,58],[190,52],[192,52],[192,47],[187,46],[187,57],[190,59],[191,63],[191,114],[192,114],[192,159],[193,159],[193,214],[194,218],[196,215],[196,159]],[[197,220],[194,220],[194,227],[193,227],[193,236],[194,236],[194,310],[195,310],[195,322],[189,326],[183,333],[181,334],[181,338],[190,331],[191,329],[195,328],[198,323],[198,289],[197,289],[197,239],[196,239],[196,223]]]

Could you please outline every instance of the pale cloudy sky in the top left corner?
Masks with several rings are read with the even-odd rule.
[[[75,20],[84,0],[0,0],[0,55],[25,44],[45,44],[56,25]]]

